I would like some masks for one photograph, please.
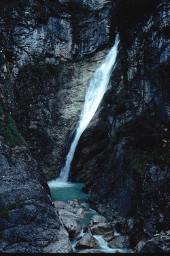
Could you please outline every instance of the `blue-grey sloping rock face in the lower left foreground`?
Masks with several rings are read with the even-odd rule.
[[[0,149],[0,252],[71,253],[69,234],[27,144],[12,148],[1,137]]]

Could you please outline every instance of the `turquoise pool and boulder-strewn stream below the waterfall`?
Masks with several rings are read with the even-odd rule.
[[[50,188],[54,208],[69,233],[73,253],[133,253],[129,237],[117,233],[117,222],[107,221],[90,209],[82,186],[82,183],[68,182],[67,186]]]

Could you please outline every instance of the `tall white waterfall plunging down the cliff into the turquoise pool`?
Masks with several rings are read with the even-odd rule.
[[[75,153],[75,148],[78,145],[78,141],[82,133],[90,123],[90,120],[92,119],[93,115],[95,115],[97,107],[99,106],[103,98],[103,95],[105,94],[105,91],[107,89],[109,77],[112,72],[114,63],[116,61],[118,42],[118,35],[116,35],[114,46],[109,51],[103,63],[101,64],[101,66],[99,66],[99,68],[97,68],[94,76],[90,80],[88,89],[86,91],[82,113],[80,114],[78,128],[75,132],[75,137],[71,144],[69,153],[67,154],[65,159],[65,166],[61,169],[61,173],[59,177],[56,178],[56,180],[48,182],[49,186],[57,186],[57,184],[63,184],[63,186],[65,186],[69,178],[69,171]]]

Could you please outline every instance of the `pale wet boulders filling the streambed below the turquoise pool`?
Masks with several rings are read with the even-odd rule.
[[[130,249],[129,236],[122,236],[116,232],[115,224],[118,225],[118,222],[108,222],[104,216],[97,215],[93,211],[94,215],[91,217],[88,225],[80,224],[83,223],[83,219],[87,218],[86,215],[89,210],[84,211],[86,215],[80,216],[76,210],[81,210],[82,204],[77,199],[68,201],[68,203],[54,201],[54,205],[56,205],[58,216],[69,233],[69,239],[75,253],[107,253],[108,250],[112,249],[113,251],[109,251],[109,253],[116,253],[116,249],[120,249],[124,253],[133,253],[133,250]],[[78,206],[80,208],[77,208]],[[59,207],[62,210],[58,210]],[[67,212],[67,208],[71,208],[71,211]],[[74,213],[73,210],[75,210]],[[97,229],[94,232],[93,228],[96,226]],[[115,238],[115,235],[118,237]],[[84,250],[79,251],[80,249]]]

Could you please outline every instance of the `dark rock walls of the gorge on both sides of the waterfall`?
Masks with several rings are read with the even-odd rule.
[[[47,181],[61,171],[116,32],[116,64],[71,179],[110,220],[91,232],[106,225],[116,248],[169,252],[168,1],[1,0],[0,15],[0,252],[73,253],[71,239],[91,236],[79,237],[78,208],[52,203]]]

